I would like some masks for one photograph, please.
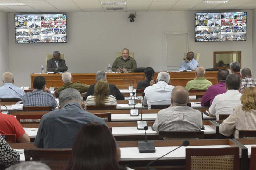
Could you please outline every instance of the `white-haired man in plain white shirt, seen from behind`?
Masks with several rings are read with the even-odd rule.
[[[174,86],[170,84],[170,74],[160,72],[157,75],[158,82],[152,86],[146,87],[144,90],[145,97],[143,105],[148,105],[148,109],[153,105],[171,105],[172,89]]]

